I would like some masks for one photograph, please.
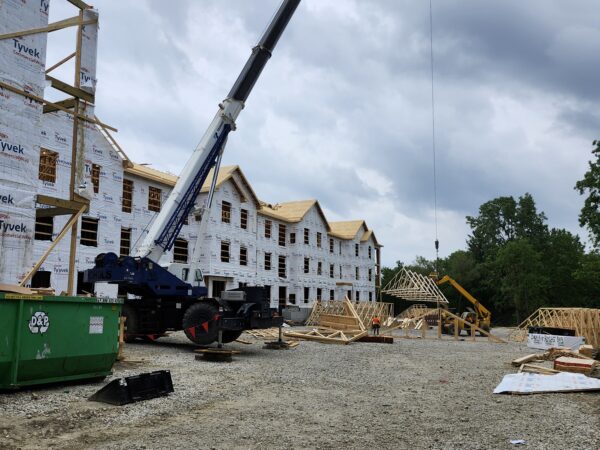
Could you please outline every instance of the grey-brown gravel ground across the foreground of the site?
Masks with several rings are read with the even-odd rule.
[[[600,448],[600,393],[492,394],[521,344],[254,342],[232,363],[196,361],[181,333],[128,345],[114,377],[168,369],[175,392],[123,407],[86,400],[108,379],[2,392],[0,448]]]

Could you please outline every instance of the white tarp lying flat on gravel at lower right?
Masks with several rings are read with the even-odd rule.
[[[600,390],[600,380],[580,373],[556,375],[512,373],[505,375],[494,394],[539,394],[544,392],[579,392]]]

